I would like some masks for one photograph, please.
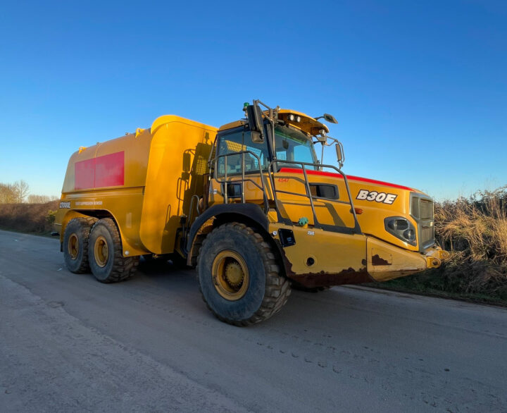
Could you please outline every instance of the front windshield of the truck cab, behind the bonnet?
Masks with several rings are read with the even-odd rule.
[[[313,143],[300,130],[288,126],[275,126],[275,153],[278,161],[297,161],[308,164],[317,164],[317,156],[313,150]],[[300,168],[298,164],[282,164],[292,168]],[[317,166],[306,166],[307,169],[315,170]]]

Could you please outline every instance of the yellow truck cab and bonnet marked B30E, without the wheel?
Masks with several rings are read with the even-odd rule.
[[[226,219],[225,211],[237,214],[238,204],[257,206],[251,216],[262,209],[267,219],[251,225],[273,239],[284,273],[303,288],[387,281],[441,264],[446,252],[434,241],[430,197],[345,175],[344,149],[327,136],[325,124],[298,111],[260,111],[258,104],[246,110],[246,119],[219,128],[208,213],[196,226],[213,207]],[[332,146],[338,165],[323,164],[325,147]],[[249,222],[248,214],[242,219]],[[192,254],[190,247],[189,262]]]

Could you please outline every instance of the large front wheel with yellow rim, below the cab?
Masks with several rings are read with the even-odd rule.
[[[206,237],[197,273],[208,308],[218,319],[235,326],[273,316],[291,292],[268,242],[242,223],[227,223]]]

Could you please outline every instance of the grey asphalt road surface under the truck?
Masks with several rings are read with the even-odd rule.
[[[507,310],[335,287],[221,323],[192,270],[70,273],[0,231],[1,412],[506,412]]]

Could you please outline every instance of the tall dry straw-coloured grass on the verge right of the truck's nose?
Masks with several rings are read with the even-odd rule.
[[[437,240],[451,252],[442,269],[456,292],[507,299],[507,187],[435,206]]]

